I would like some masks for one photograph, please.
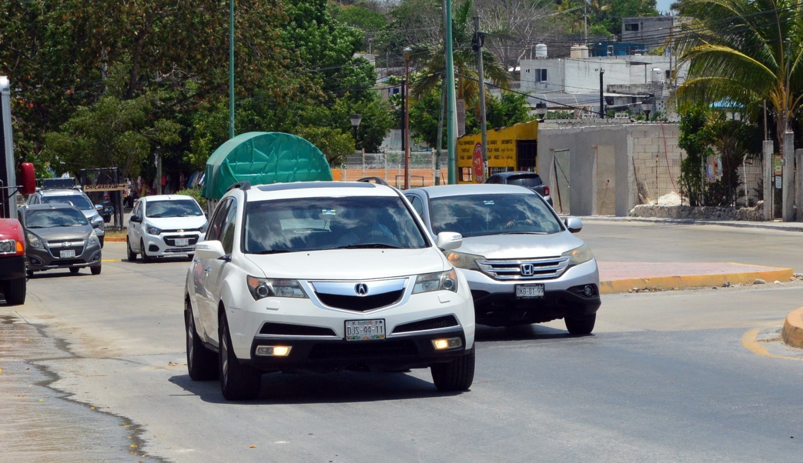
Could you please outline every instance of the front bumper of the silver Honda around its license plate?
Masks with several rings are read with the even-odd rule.
[[[471,287],[476,321],[483,325],[511,326],[588,317],[597,313],[601,305],[596,260],[574,265],[552,280],[498,281],[474,270],[463,270],[463,275]],[[544,284],[544,297],[516,297],[516,285],[533,283]],[[593,286],[590,297],[582,293],[586,285]]]

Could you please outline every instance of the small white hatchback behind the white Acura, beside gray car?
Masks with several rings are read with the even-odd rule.
[[[158,256],[192,256],[204,233],[206,216],[191,196],[145,196],[128,219],[128,260],[137,260],[137,254],[143,262]]]

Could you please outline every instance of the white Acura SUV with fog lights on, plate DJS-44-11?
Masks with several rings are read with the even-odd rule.
[[[410,203],[361,182],[236,184],[187,272],[187,368],[226,399],[259,395],[270,371],[431,367],[441,391],[474,379],[465,277]]]

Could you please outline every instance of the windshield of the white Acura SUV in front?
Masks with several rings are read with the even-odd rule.
[[[397,196],[252,202],[247,204],[245,229],[247,253],[427,245]]]

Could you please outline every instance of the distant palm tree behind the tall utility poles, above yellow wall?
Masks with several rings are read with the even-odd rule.
[[[452,40],[454,42],[454,72],[458,75],[457,98],[474,100],[479,95],[477,83],[476,55],[471,49],[472,32],[469,31],[471,13],[474,11],[474,2],[466,0],[457,7],[452,19]],[[440,87],[442,77],[446,71],[443,40],[437,42],[420,43],[412,47],[411,59],[418,61],[428,70],[421,79],[411,88],[413,96],[421,97],[426,92]],[[483,47],[483,70],[485,78],[492,84],[509,88],[511,77],[503,64],[499,63],[495,55]],[[465,79],[461,76],[469,77]],[[475,80],[471,80],[475,79]]]

